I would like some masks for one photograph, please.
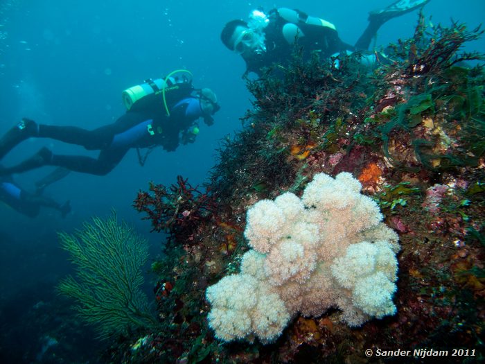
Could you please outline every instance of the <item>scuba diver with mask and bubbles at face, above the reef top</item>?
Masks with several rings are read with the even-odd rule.
[[[303,56],[318,51],[322,58],[349,51],[365,51],[372,38],[386,21],[417,8],[430,0],[400,0],[387,8],[369,13],[369,26],[355,46],[346,44],[338,36],[335,26],[324,19],[310,17],[300,10],[272,9],[265,15],[254,10],[249,21],[229,21],[220,35],[222,43],[239,53],[246,62],[246,71],[261,76],[261,69],[273,63],[286,64],[291,59],[294,44],[302,47]],[[375,60],[376,55],[373,55]],[[367,63],[371,60],[367,60]],[[365,62],[364,62],[365,63]]]

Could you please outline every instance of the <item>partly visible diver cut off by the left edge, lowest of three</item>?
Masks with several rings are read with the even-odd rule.
[[[21,189],[11,176],[0,177],[0,202],[4,202],[12,209],[30,218],[35,218],[39,215],[41,207],[58,210],[63,218],[71,211],[69,201],[65,202],[64,205],[60,205],[60,203],[51,198],[28,193],[26,190]]]

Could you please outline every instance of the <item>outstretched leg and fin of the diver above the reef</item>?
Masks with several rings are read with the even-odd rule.
[[[387,8],[369,12],[369,25],[360,36],[355,49],[358,51],[366,50],[371,44],[372,38],[376,36],[379,28],[389,19],[399,17],[407,12],[422,8],[430,0],[399,0],[391,3]]]

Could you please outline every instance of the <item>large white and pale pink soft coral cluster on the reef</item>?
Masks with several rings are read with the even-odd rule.
[[[276,339],[293,315],[342,309],[358,326],[393,315],[398,236],[350,173],[319,173],[302,198],[287,192],[247,211],[249,250],[238,275],[206,291],[209,324],[226,341]]]

